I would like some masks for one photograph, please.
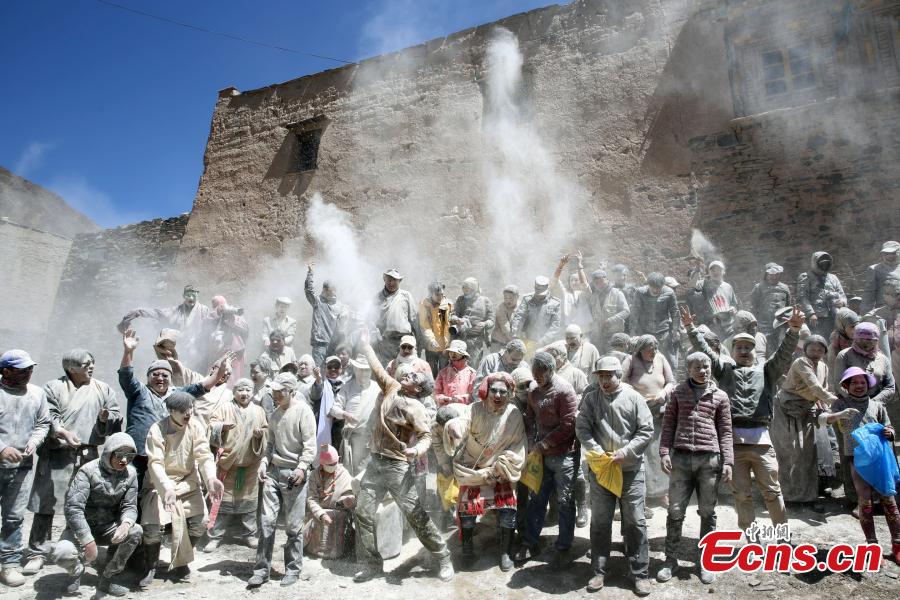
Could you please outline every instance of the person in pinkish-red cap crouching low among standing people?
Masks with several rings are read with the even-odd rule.
[[[309,476],[307,520],[303,528],[306,551],[319,558],[341,558],[353,545],[350,511],[356,506],[353,477],[338,459],[334,446],[322,444],[319,467]]]

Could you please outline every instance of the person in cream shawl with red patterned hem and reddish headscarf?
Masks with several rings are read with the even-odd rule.
[[[512,545],[516,530],[516,482],[525,465],[525,423],[509,400],[515,382],[507,373],[488,375],[479,389],[480,402],[472,405],[468,434],[453,457],[459,482],[460,533],[463,561],[475,562],[475,519],[486,510],[497,511],[500,525],[500,570],[513,567]]]

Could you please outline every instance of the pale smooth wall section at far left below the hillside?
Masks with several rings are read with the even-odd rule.
[[[0,352],[24,348],[40,361],[53,299],[72,240],[7,219],[0,219],[0,240]]]

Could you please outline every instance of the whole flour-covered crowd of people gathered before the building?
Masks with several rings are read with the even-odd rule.
[[[240,541],[256,549],[248,585],[259,587],[281,524],[280,585],[308,579],[305,554],[350,560],[354,550],[362,582],[383,575],[392,506],[443,581],[454,577],[448,529],[457,565],[471,568],[477,523],[490,514],[509,571],[547,555],[541,534],[556,522],[549,560],[566,569],[576,529],[590,522],[585,584],[596,591],[618,510],[635,593],[647,595],[648,515],[667,511],[654,575],[664,583],[688,558],[692,495],[702,537],[716,529],[721,483],[741,529],[756,522],[754,485],[775,525],[791,511],[823,512],[843,486],[864,541],[877,543],[883,512],[900,562],[895,498],[855,468],[851,435],[875,424],[868,431],[894,439],[898,259],[900,244],[885,242],[849,298],[827,252],[794,289],[770,262],[746,303],[718,260],[695,261],[681,284],[623,265],[588,276],[576,252],[527,294],[504,287],[497,303],[475,278],[453,301],[441,281],[416,301],[391,268],[369,311],[341,302],[328,281],[317,290],[310,265],[308,345],[291,298],[275,299],[251,341],[241,309],[218,295],[206,306],[188,285],[178,306],[119,323],[119,390],[93,377],[89,350],[67,352],[43,387],[30,381],[28,352],[0,357],[0,582],[20,586],[54,563],[75,592],[107,546],[98,588],[129,593],[129,572],[150,589],[168,535],[159,576],[183,581],[196,550]],[[137,319],[159,334],[156,360],[136,372]],[[57,513],[65,528],[54,540]]]

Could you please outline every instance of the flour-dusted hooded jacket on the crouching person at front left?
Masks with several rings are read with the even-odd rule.
[[[137,521],[137,471],[131,465],[116,471],[109,462],[120,448],[135,450],[134,440],[127,433],[109,436],[100,458],[81,467],[66,492],[66,526],[82,547],[94,541],[91,525]]]

